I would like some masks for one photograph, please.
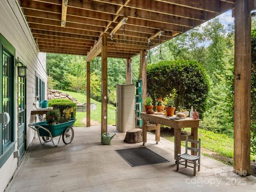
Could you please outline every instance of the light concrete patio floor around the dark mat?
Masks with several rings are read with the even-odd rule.
[[[100,126],[75,127],[70,145],[41,146],[36,139],[6,191],[255,191],[256,178],[239,177],[232,167],[202,157],[201,171],[180,166],[176,172],[174,145],[148,133],[146,147],[170,162],[131,167],[115,149],[141,147],[123,142],[118,133],[110,146],[100,144]],[[113,134],[115,127],[109,127]],[[183,149],[182,149],[183,150]]]

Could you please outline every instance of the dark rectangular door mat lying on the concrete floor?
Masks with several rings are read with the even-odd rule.
[[[169,162],[146,147],[115,150],[132,167]]]

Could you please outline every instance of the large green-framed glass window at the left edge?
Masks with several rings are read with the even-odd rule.
[[[15,49],[0,34],[0,114],[8,113],[10,122],[0,123],[0,168],[10,157],[15,148]]]

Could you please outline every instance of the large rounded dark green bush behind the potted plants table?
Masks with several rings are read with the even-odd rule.
[[[166,97],[173,89],[178,93],[176,107],[183,103],[187,109],[193,106],[204,112],[209,81],[199,63],[179,60],[148,65],[147,90],[154,100]]]

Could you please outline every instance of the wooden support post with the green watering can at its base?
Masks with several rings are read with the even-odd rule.
[[[107,55],[107,34],[102,35],[101,47],[101,135],[108,132],[108,92],[107,92],[107,68],[108,68],[108,55]]]

